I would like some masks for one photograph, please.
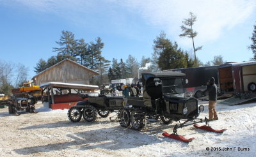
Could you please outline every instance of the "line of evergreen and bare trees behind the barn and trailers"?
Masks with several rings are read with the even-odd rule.
[[[175,68],[191,68],[197,66],[211,66],[225,63],[223,57],[214,56],[212,61],[202,63],[196,52],[202,49],[202,46],[195,47],[195,37],[197,32],[193,29],[193,25],[196,22],[196,16],[193,13],[189,13],[188,19],[182,21],[180,29],[182,33],[180,37],[191,38],[193,43],[194,54],[189,54],[186,50],[182,50],[176,41],[171,41],[166,38],[166,34],[162,31],[159,36],[153,40],[153,50],[151,57],[143,56],[141,61],[138,61],[131,54],[124,59],[113,58],[109,61],[102,56],[102,49],[105,43],[98,37],[95,41],[86,43],[83,38],[77,40],[74,33],[70,31],[62,31],[60,40],[56,41],[59,47],[54,47],[53,52],[57,52],[56,56],[52,56],[47,61],[40,59],[35,67],[35,72],[40,73],[41,71],[49,68],[50,66],[62,61],[63,59],[71,59],[76,61],[83,66],[86,66],[92,70],[100,73],[100,76],[96,79],[92,79],[95,82],[92,84],[104,84],[110,82],[113,79],[125,79],[127,77],[138,77],[143,71],[163,71]],[[255,54],[255,35],[256,26],[254,26],[252,41],[250,49]],[[254,59],[256,59],[254,55]]]

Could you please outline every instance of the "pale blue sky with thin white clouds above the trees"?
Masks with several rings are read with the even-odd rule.
[[[72,31],[76,39],[105,43],[106,59],[140,61],[152,56],[153,40],[161,31],[193,54],[191,39],[180,38],[182,20],[195,13],[195,45],[203,46],[196,57],[203,63],[221,55],[225,61],[248,61],[256,24],[255,0],[0,0],[0,59],[22,63],[29,78],[40,58],[56,56],[52,47],[61,31]]]

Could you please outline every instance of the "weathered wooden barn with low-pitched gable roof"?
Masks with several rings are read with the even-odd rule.
[[[90,79],[95,75],[99,73],[70,59],[65,59],[38,73],[32,80],[38,86],[47,82],[90,84]]]

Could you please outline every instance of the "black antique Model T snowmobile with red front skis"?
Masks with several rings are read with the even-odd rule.
[[[186,139],[177,134],[177,129],[194,124],[196,128],[207,131],[214,130],[205,118],[198,119],[204,106],[198,107],[196,98],[184,96],[184,73],[168,71],[161,73],[142,73],[143,97],[128,97],[127,104],[119,112],[120,125],[141,130],[148,117],[161,117],[164,124],[179,121],[173,128],[173,133],[163,133],[165,137],[174,138],[183,142],[191,142],[193,138]],[[184,121],[184,123],[180,123]],[[196,123],[207,122],[205,126]],[[223,131],[223,130],[221,130]]]

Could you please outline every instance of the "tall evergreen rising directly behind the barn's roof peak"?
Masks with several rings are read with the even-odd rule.
[[[54,47],[53,51],[63,56],[77,56],[77,40],[75,35],[70,31],[61,31],[60,41],[56,41],[60,47]]]

